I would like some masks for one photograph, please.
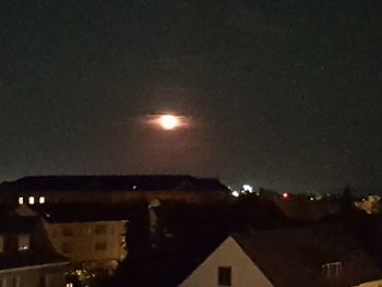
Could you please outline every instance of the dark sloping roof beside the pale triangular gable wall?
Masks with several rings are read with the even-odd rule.
[[[345,272],[336,286],[354,286],[382,275],[361,246],[338,225],[235,235],[234,239],[274,286],[326,286],[322,265],[333,262],[342,262]]]

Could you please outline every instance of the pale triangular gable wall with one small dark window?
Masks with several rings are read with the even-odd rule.
[[[240,246],[228,237],[180,287],[218,287],[217,271],[219,266],[231,267],[232,287],[273,287],[271,282],[258,268]]]

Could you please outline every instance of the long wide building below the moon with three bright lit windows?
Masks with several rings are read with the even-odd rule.
[[[229,199],[217,179],[191,176],[37,176],[0,184],[5,204],[160,201],[204,203]]]

